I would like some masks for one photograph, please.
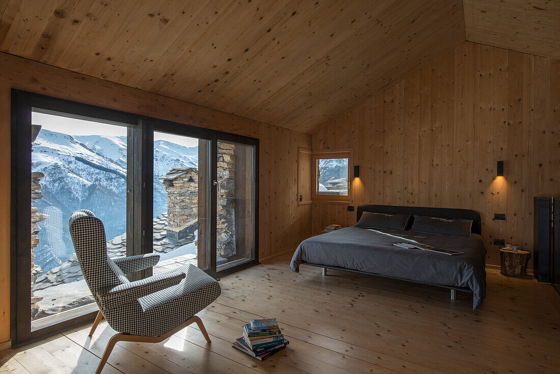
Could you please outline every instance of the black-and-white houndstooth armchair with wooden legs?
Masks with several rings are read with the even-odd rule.
[[[69,228],[83,277],[99,306],[89,335],[93,335],[103,317],[118,331],[109,340],[97,373],[117,341],[157,343],[196,322],[210,343],[202,320],[195,314],[220,295],[220,285],[215,279],[189,264],[129,281],[126,274],[153,267],[160,255],[109,258],[103,224],[89,210],[74,211]]]

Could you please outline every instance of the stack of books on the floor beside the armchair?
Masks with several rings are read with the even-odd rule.
[[[284,339],[276,318],[272,320],[251,320],[243,326],[243,336],[236,339],[232,347],[263,361],[274,353],[286,348],[290,341]]]

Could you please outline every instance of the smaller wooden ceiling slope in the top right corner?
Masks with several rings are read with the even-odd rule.
[[[466,40],[560,59],[560,1],[464,0]]]

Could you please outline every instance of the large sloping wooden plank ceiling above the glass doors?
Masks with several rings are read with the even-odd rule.
[[[0,50],[311,132],[465,40],[461,0],[0,0]]]

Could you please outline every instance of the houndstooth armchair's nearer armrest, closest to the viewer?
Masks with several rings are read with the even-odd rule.
[[[183,278],[185,273],[170,271],[115,287],[101,288],[97,290],[96,295],[100,307],[110,310],[120,304],[131,303],[143,296],[178,285]]]

